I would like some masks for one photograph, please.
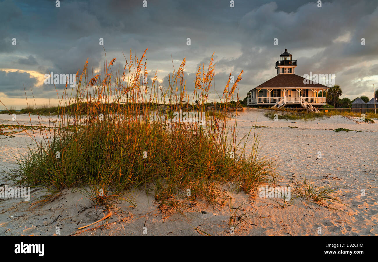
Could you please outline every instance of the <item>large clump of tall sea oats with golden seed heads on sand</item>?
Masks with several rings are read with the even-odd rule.
[[[244,146],[237,144],[236,118],[219,113],[234,106],[229,102],[243,71],[232,86],[230,80],[226,83],[220,103],[223,108],[209,111],[213,58],[207,70],[198,68],[195,89],[189,96],[185,59],[169,75],[167,87],[157,85],[156,74],[141,81],[148,76],[146,63],[142,70],[146,51],[140,59],[130,54],[123,71],[113,70],[113,59],[105,63],[101,75],[91,77],[87,61],[77,75],[73,95],[65,89],[60,97],[57,128],[41,131],[42,139],[30,136],[34,147],[17,159],[19,172],[9,173],[9,178],[22,185],[43,186],[50,193],[89,187],[90,198],[107,206],[133,188],[143,188],[160,203],[170,205],[180,206],[178,199],[223,204],[226,183],[250,193],[268,180],[272,163],[257,156],[256,134],[253,138],[248,134]],[[208,120],[169,119],[167,115],[189,109],[189,103],[183,101],[192,101],[190,109],[205,112]],[[248,140],[254,141],[251,154],[246,152]],[[183,194],[187,190],[191,192],[188,197]]]

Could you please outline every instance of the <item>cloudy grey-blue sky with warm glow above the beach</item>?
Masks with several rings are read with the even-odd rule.
[[[149,74],[157,71],[163,85],[172,60],[176,68],[186,57],[189,91],[198,66],[206,67],[215,52],[216,92],[222,94],[230,72],[236,79],[243,70],[243,99],[277,75],[275,62],[286,47],[297,60],[297,75],[335,74],[341,98],[372,98],[373,84],[378,88],[378,1],[321,1],[321,7],[317,0],[230,2],[147,0],[143,7],[143,0],[62,0],[56,7],[54,0],[0,0],[0,101],[24,108],[26,90],[29,103],[56,105],[63,88],[46,85],[45,74],[76,74],[87,58],[88,69],[98,71],[104,49],[123,68],[122,52],[140,57],[146,48]]]

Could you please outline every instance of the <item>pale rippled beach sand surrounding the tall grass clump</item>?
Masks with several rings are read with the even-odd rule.
[[[93,208],[82,193],[65,190],[62,196],[42,208],[29,209],[28,202],[16,198],[1,199],[0,235],[53,235],[56,227],[60,228],[60,235],[88,229],[75,235],[143,235],[144,227],[147,235],[163,236],[203,235],[203,232],[253,236],[378,235],[378,121],[355,123],[341,116],[313,121],[273,121],[264,116],[265,112],[247,108],[238,116],[238,128],[242,136],[256,119],[257,125],[268,126],[257,129],[261,139],[260,156],[276,160],[279,186],[290,186],[307,175],[316,185],[341,187],[340,200],[349,207],[336,204],[332,206],[335,209],[330,209],[295,199],[291,206],[281,208],[276,201],[282,204],[282,199],[233,193],[231,208],[244,201],[237,216],[247,214],[250,218],[231,234],[229,217],[235,209],[230,209],[229,203],[223,207],[212,207],[200,201],[184,216],[164,206],[157,208],[152,196],[147,197],[144,192],[138,191],[130,193],[135,197],[137,207],[121,202],[122,212],[113,210],[110,219],[77,230],[101,219],[104,210]],[[10,119],[9,115],[0,115],[0,124],[14,124]],[[17,120],[20,124],[30,125],[27,115],[18,115]],[[48,125],[48,119],[45,117],[44,120]],[[33,116],[33,124],[36,123],[37,117]],[[332,131],[340,127],[362,132]],[[15,134],[13,138],[0,139],[0,164],[3,168],[15,168],[12,155],[25,154],[27,145],[33,143],[24,132]],[[318,151],[321,151],[321,159],[317,157]],[[3,177],[0,177],[0,184],[3,183]],[[361,196],[361,190],[365,190],[365,196]],[[42,194],[41,190],[34,191],[31,200]],[[104,226],[99,227],[101,225]],[[321,234],[318,234],[319,227]]]

